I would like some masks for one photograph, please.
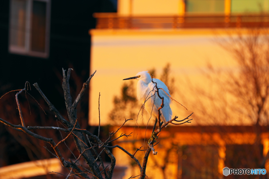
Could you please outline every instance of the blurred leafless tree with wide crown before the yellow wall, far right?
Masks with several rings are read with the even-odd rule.
[[[238,125],[238,129],[245,130],[246,133],[252,131],[248,131],[244,126],[253,126],[256,134],[253,142],[249,139],[242,145],[233,144],[236,138],[225,136],[227,141],[231,141],[225,146],[225,166],[246,169],[264,168],[268,153],[263,156],[261,126],[269,124],[268,30],[237,29],[236,32],[229,33],[228,37],[218,38],[217,43],[231,53],[237,62],[237,67],[224,70],[208,65],[205,74],[212,86],[208,89],[199,86],[190,87],[192,94],[196,95],[195,101],[188,100],[185,104],[195,109],[195,117],[199,119],[200,124],[215,126],[223,135],[227,131],[222,129],[221,125]],[[232,177],[228,176],[228,178]],[[236,178],[255,177],[236,176]]]

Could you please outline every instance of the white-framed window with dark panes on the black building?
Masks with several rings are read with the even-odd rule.
[[[9,52],[49,56],[50,0],[11,0]]]

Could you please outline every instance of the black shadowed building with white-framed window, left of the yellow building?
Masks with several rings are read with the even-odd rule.
[[[38,83],[44,94],[59,111],[65,111],[61,89],[62,68],[73,68],[71,87],[81,88],[89,78],[89,29],[95,28],[94,12],[115,12],[109,0],[2,0],[0,3],[0,96],[23,89],[26,81]],[[81,86],[79,86],[81,85]],[[32,86],[31,93],[36,93]],[[37,93],[38,94],[38,93]],[[81,111],[88,113],[88,93]],[[9,120],[6,109],[15,93],[0,99],[1,118]],[[35,96],[41,98],[41,96]],[[1,101],[2,100],[2,101]],[[13,110],[13,111],[12,111]],[[16,112],[15,112],[16,111]],[[7,127],[0,125],[0,167],[29,160],[25,149],[14,140]],[[12,151],[12,155],[9,151]],[[16,151],[25,154],[19,160]],[[21,155],[23,156],[23,155]]]

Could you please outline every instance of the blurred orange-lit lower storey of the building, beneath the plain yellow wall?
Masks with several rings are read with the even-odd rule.
[[[112,127],[111,130],[116,130]],[[253,156],[256,155],[256,133],[251,126],[170,126],[163,128],[154,146],[157,155],[150,154],[147,163],[146,174],[151,178],[222,178],[223,168],[236,163],[240,167],[259,167]],[[264,128],[265,129],[265,128]],[[151,135],[151,127],[136,128],[123,127],[121,133],[132,137],[122,137],[113,145],[120,145],[133,154],[137,148],[147,149],[147,142]],[[261,130],[263,131],[263,130]],[[266,156],[268,152],[268,132],[261,133],[260,154]],[[232,149],[231,149],[232,147]],[[240,152],[234,154],[234,147],[240,148]],[[113,154],[118,162],[117,166],[128,166],[125,178],[139,175],[137,164],[121,149],[115,148]],[[242,164],[244,159],[237,158],[242,155],[248,162]],[[143,151],[138,151],[135,157],[142,163]],[[239,161],[236,161],[239,159]],[[268,171],[268,162],[266,170]],[[165,177],[163,176],[165,174]],[[244,177],[244,176],[242,176]],[[123,177],[124,178],[124,177]]]

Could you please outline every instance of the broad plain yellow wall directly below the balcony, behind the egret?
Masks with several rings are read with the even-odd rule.
[[[217,39],[225,38],[225,33],[228,32],[212,29],[91,30],[91,73],[97,72],[90,82],[90,125],[99,122],[99,92],[101,125],[105,125],[109,123],[113,99],[121,94],[121,87],[126,82],[122,79],[140,71],[155,68],[156,76],[160,78],[162,68],[169,63],[176,88],[172,97],[179,102],[182,102],[181,94],[188,98],[193,96],[187,83],[211,89],[212,85],[203,76],[209,63],[219,69],[236,67],[232,56],[217,43]],[[180,116],[185,109],[173,103],[172,111],[173,116]]]

